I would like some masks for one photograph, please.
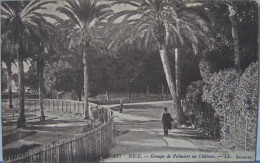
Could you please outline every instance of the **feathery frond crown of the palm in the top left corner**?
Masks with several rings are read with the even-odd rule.
[[[16,54],[18,48],[19,55],[24,55],[24,58],[33,55],[34,51],[31,49],[31,45],[35,42],[45,44],[49,43],[49,37],[47,33],[52,33],[53,25],[45,18],[58,19],[57,17],[39,13],[40,10],[45,10],[47,4],[51,4],[53,1],[24,1],[24,2],[3,2],[1,10],[1,31],[2,39],[8,39],[11,44],[4,46],[8,48],[10,54]],[[19,46],[19,47],[17,47]],[[21,51],[22,50],[22,51]]]

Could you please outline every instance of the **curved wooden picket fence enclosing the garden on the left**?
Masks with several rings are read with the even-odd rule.
[[[18,102],[14,102],[14,104],[18,104]],[[26,100],[25,104],[28,112],[32,106],[38,109],[39,101]],[[3,105],[6,104],[2,100]],[[91,104],[90,107],[94,107],[94,104]],[[29,149],[28,152],[8,158],[4,156],[4,162],[63,163],[102,158],[109,150],[113,140],[113,113],[110,109],[104,109],[97,105],[95,105],[95,108],[100,109],[103,119],[103,124],[97,128],[70,140],[57,141],[38,149]],[[70,100],[45,99],[44,109],[84,113],[82,102]]]

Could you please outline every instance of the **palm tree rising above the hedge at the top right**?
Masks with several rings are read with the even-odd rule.
[[[240,54],[240,47],[239,47],[239,26],[241,23],[247,24],[244,20],[252,20],[255,17],[253,15],[248,15],[249,13],[254,13],[257,7],[256,1],[216,1],[214,3],[205,3],[205,7],[207,7],[214,19],[218,19],[217,21],[223,21],[226,19],[229,21],[230,25],[226,25],[229,29],[226,29],[224,35],[222,34],[223,40],[225,40],[225,44],[230,44],[228,46],[233,46],[233,56],[234,56],[234,65],[238,71],[241,71],[241,54]],[[221,9],[221,10],[220,10]],[[221,13],[221,16],[220,14]],[[249,16],[249,18],[248,18]],[[220,18],[221,17],[221,18]],[[216,23],[217,24],[217,23]],[[218,23],[219,25],[220,23]],[[218,27],[215,27],[217,35],[221,35],[219,32]],[[242,34],[243,35],[243,34]],[[231,36],[230,38],[226,38]],[[230,40],[229,40],[230,39]],[[220,41],[216,42],[219,44]],[[227,43],[230,42],[230,43]]]

